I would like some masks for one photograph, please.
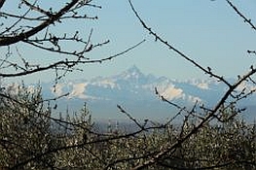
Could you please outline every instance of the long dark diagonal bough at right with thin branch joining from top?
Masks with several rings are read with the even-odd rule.
[[[154,164],[158,164],[158,162],[161,162],[161,160],[165,157],[165,155],[167,155],[168,153],[170,153],[170,155],[171,155],[171,153],[173,153],[183,143],[185,143],[187,140],[189,140],[194,135],[197,135],[197,133],[204,126],[204,124],[208,123],[211,119],[215,119],[215,115],[217,114],[217,112],[226,103],[227,99],[232,96],[232,93],[235,92],[235,90],[238,88],[238,85],[241,85],[243,82],[246,82],[247,80],[249,80],[251,78],[251,76],[255,74],[256,69],[254,69],[252,67],[251,70],[248,73],[244,74],[242,77],[239,77],[239,79],[236,83],[230,84],[222,76],[219,76],[219,75],[213,73],[212,70],[209,67],[207,67],[207,68],[202,67],[201,64],[199,64],[199,62],[194,61],[193,59],[191,59],[190,56],[186,55],[184,52],[179,51],[176,48],[174,48],[173,46],[171,46],[167,41],[165,41],[161,36],[159,36],[158,33],[153,31],[153,29],[151,27],[149,27],[146,24],[146,22],[138,15],[138,12],[135,10],[133,4],[131,3],[131,0],[128,0],[128,2],[129,2],[130,8],[131,8],[133,14],[135,15],[135,17],[137,17],[137,19],[141,23],[142,27],[144,29],[146,29],[150,33],[150,35],[152,35],[154,37],[156,42],[159,41],[163,46],[167,47],[169,51],[176,52],[181,57],[183,57],[186,61],[195,65],[196,68],[199,68],[203,73],[208,74],[210,77],[215,78],[218,81],[220,81],[220,82],[222,82],[222,83],[224,83],[225,85],[228,86],[228,90],[222,95],[222,97],[219,99],[219,101],[216,103],[216,105],[212,109],[207,110],[208,113],[206,114],[206,116],[204,118],[201,118],[201,121],[198,123],[198,125],[196,125],[194,128],[192,128],[192,130],[190,130],[187,134],[181,135],[176,140],[176,142],[174,142],[170,146],[167,146],[166,148],[163,148],[158,153],[155,153],[154,155],[148,157],[147,160],[143,161],[141,164],[139,164],[137,166],[134,166],[132,168],[132,170],[139,170],[139,169],[145,169],[145,168],[147,168],[151,165],[154,165]],[[230,3],[230,5],[232,5],[232,4]],[[233,5],[232,5],[232,7],[234,8]],[[235,10],[236,10],[236,8],[235,8]],[[243,17],[242,15],[240,15],[238,10],[236,10],[236,12],[239,14],[239,16]],[[251,24],[250,20],[245,19],[245,21],[248,22],[249,24]],[[249,95],[250,94],[251,93],[249,93]],[[167,102],[167,100],[165,100],[164,97],[162,97],[162,100]],[[170,104],[177,107],[173,103],[170,103]],[[181,107],[178,106],[178,108],[181,108]]]

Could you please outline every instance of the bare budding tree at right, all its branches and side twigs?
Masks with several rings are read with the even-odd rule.
[[[252,23],[252,20],[242,15],[242,13],[238,10],[238,8],[229,0],[227,0],[228,5],[230,5],[234,11],[238,14],[239,17],[241,17],[245,23],[251,26],[252,29],[255,30],[255,26]],[[230,83],[227,79],[225,79],[223,76],[216,74],[209,66],[202,66],[199,61],[195,61],[192,56],[187,55],[184,51],[179,51],[177,48],[175,48],[171,43],[167,42],[164,38],[162,38],[157,32],[154,31],[153,28],[151,28],[144,20],[141,18],[138,14],[138,12],[135,10],[134,6],[131,3],[131,0],[129,0],[129,4],[131,7],[131,10],[133,11],[135,17],[139,20],[142,27],[149,32],[150,35],[153,36],[154,40],[156,42],[161,43],[168,51],[173,51],[177,54],[179,54],[180,57],[182,57],[187,62],[194,65],[197,69],[200,69],[201,72],[207,74],[210,78],[216,79],[218,82],[227,85],[228,89],[227,91],[222,95],[222,97],[219,99],[219,101],[216,103],[216,105],[213,108],[206,108],[203,105],[198,106],[199,104],[196,103],[195,106],[191,110],[185,109],[185,107],[180,107],[179,105],[172,103],[171,101],[168,101],[165,99],[164,96],[161,96],[156,88],[156,93],[160,96],[160,98],[165,101],[166,103],[170,104],[171,106],[174,106],[178,109],[180,109],[180,112],[183,113],[185,119],[183,122],[183,125],[181,126],[181,131],[179,138],[170,144],[166,144],[162,148],[159,149],[159,151],[154,153],[149,153],[148,155],[145,155],[146,160],[141,162],[140,164],[133,167],[133,169],[147,169],[151,165],[160,165],[164,167],[169,167],[173,169],[184,169],[185,167],[173,167],[173,164],[171,162],[166,163],[167,159],[174,156],[175,153],[177,153],[178,149],[183,146],[184,143],[187,141],[190,141],[192,138],[195,138],[198,133],[200,133],[201,129],[205,126],[205,124],[208,124],[212,120],[217,121],[228,121],[230,119],[233,119],[238,113],[243,112],[244,108],[238,108],[236,109],[235,115],[229,115],[228,118],[225,120],[222,119],[223,111],[228,110],[231,106],[236,104],[239,100],[246,98],[247,96],[251,95],[255,92],[255,89],[242,89],[241,91],[238,91],[237,88],[242,83],[252,83],[255,84],[255,80],[253,79],[253,75],[256,73],[256,68],[253,67],[253,65],[248,67],[248,72],[242,74],[241,76],[238,76],[238,80],[235,83]],[[254,51],[247,51],[249,53],[254,53]],[[200,111],[196,111],[195,108],[200,108]],[[201,112],[204,112],[205,115],[201,117]],[[186,123],[188,122],[189,117],[194,117],[198,119],[198,122],[194,124],[194,127],[189,129],[185,132]],[[229,164],[229,163],[227,163]],[[197,168],[208,168],[212,169],[213,167],[197,167]],[[224,165],[225,166],[225,165]]]

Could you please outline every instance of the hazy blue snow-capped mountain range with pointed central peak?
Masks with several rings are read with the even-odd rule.
[[[253,85],[248,86],[254,88]],[[195,102],[212,106],[227,89],[227,86],[213,80],[173,81],[165,77],[145,75],[136,67],[107,78],[97,77],[91,80],[76,80],[43,85],[47,97],[69,93],[57,101],[61,108],[79,110],[87,102],[92,116],[96,118],[125,118],[116,105],[122,105],[135,118],[171,118],[175,110],[162,102],[158,92],[171,102],[190,107]],[[242,89],[241,85],[238,90]],[[254,106],[256,98],[250,97],[247,105]]]

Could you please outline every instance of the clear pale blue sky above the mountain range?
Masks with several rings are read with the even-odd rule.
[[[145,22],[169,44],[183,51],[202,66],[225,77],[237,77],[255,61],[246,53],[256,50],[256,32],[238,17],[224,0],[133,0],[134,7]],[[233,1],[240,11],[256,23],[256,1]],[[53,4],[53,3],[51,3]],[[97,0],[94,4],[102,9],[89,9],[89,16],[96,21],[81,23],[85,35],[93,28],[92,42],[110,40],[110,44],[89,53],[91,58],[106,57],[135,45],[146,42],[137,49],[102,64],[81,66],[84,72],[70,73],[68,79],[90,79],[94,76],[110,76],[136,65],[145,74],[153,73],[171,79],[206,78],[199,69],[173,51],[169,51],[142,28],[132,13],[128,0]],[[11,8],[6,5],[4,10]],[[74,23],[75,24],[75,23]],[[63,30],[74,29],[74,24]],[[20,45],[22,46],[22,45]],[[26,48],[22,49],[24,52]],[[39,51],[29,49],[31,59],[50,60]],[[54,76],[54,74],[53,74]],[[29,77],[28,81],[50,80],[49,73]]]

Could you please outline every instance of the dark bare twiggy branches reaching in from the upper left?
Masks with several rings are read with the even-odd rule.
[[[1,1],[1,5],[4,2]],[[10,2],[7,1],[5,5],[8,5],[8,3]],[[72,30],[64,30],[63,32],[59,29],[59,25],[65,21],[79,22],[81,19],[84,21],[95,20],[98,18],[97,16],[90,17],[90,14],[86,14],[83,9],[100,9],[100,6],[92,4],[91,0],[63,1],[58,3],[59,8],[57,9],[45,7],[40,1],[30,2],[20,0],[17,3],[17,14],[5,12],[4,9],[0,13],[2,19],[5,20],[1,25],[0,46],[7,47],[6,55],[1,56],[0,60],[2,70],[0,73],[1,78],[24,76],[54,69],[56,79],[59,79],[67,72],[71,72],[74,69],[80,70],[75,67],[78,64],[101,63],[128,52],[141,43],[120,53],[117,52],[113,55],[91,59],[89,52],[108,44],[109,40],[93,43],[92,28],[89,31],[89,35],[84,35],[85,33],[80,32],[79,30],[81,29],[76,27],[72,28]],[[70,43],[74,48],[69,48]],[[49,51],[52,55],[54,53],[60,53],[63,54],[63,59],[55,60],[48,65],[43,65],[42,62],[30,63],[27,57],[21,54],[18,48],[15,48],[20,61],[14,61],[12,60],[12,55],[14,55],[12,45],[15,44],[24,44],[35,51]],[[44,58],[38,59],[41,60]],[[11,69],[14,71],[12,72]],[[61,74],[58,74],[60,71]]]

